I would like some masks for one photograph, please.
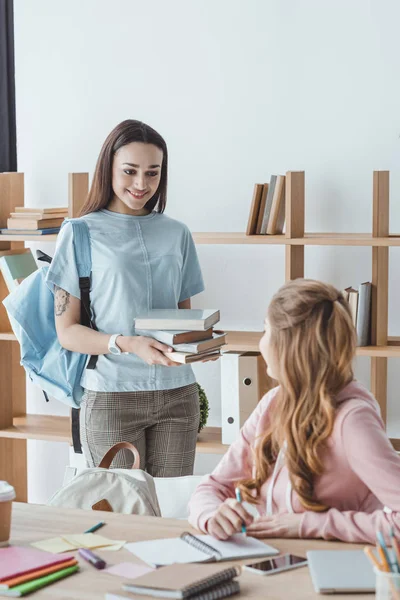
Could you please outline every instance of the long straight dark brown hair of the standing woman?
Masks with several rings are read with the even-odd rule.
[[[156,193],[148,200],[144,208],[164,212],[167,203],[168,150],[164,138],[149,125],[141,121],[127,119],[117,125],[107,136],[97,159],[92,185],[80,216],[105,208],[113,197],[112,163],[114,154],[132,142],[144,142],[157,146],[163,153],[160,184]],[[157,208],[156,208],[157,207]]]

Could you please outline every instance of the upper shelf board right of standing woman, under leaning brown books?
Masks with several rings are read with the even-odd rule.
[[[241,232],[193,233],[196,244],[277,244],[284,246],[400,246],[400,234],[374,238],[370,233],[306,233],[303,238],[285,235],[246,235]]]

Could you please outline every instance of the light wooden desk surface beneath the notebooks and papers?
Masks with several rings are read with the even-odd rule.
[[[175,519],[161,519],[156,517],[137,517],[131,515],[118,515],[106,512],[89,512],[84,510],[60,509],[36,504],[14,503],[11,527],[11,543],[28,545],[41,539],[59,536],[62,533],[78,533],[91,527],[98,521],[105,521],[106,525],[99,533],[115,540],[129,542],[149,540],[161,537],[177,537],[185,530],[191,529],[185,521]],[[273,546],[282,553],[304,555],[306,550],[312,549],[357,549],[362,546],[343,544],[340,542],[324,542],[321,540],[269,540]],[[117,552],[95,551],[102,556],[109,566],[120,562],[131,561],[140,563],[133,554],[125,549]],[[32,600],[51,598],[52,600],[99,600],[105,597],[106,592],[122,591],[120,577],[109,575],[94,569],[75,553],[81,571],[71,577],[50,585],[32,594]],[[224,562],[224,565],[238,564]],[[314,592],[307,567],[278,573],[273,576],[262,577],[243,572],[240,576],[241,594],[243,598],[254,600],[277,600],[290,598],[290,600],[321,600]],[[132,599],[139,596],[132,595]],[[146,598],[146,596],[140,596]],[[239,596],[237,596],[239,598]],[[325,596],[327,598],[327,596]],[[334,595],[334,600],[371,600],[370,594]]]

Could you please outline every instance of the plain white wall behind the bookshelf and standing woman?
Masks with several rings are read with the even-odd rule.
[[[137,118],[167,140],[167,212],[193,231],[243,231],[253,184],[290,169],[306,171],[307,230],[338,232],[370,231],[372,171],[390,169],[391,230],[400,231],[396,0],[14,4],[27,204],[65,204],[67,173],[92,173],[108,132]],[[198,252],[207,290],[194,305],[219,306],[223,327],[260,330],[283,283],[283,248]],[[306,248],[306,276],[354,285],[370,279],[370,258],[368,248]],[[400,249],[390,259],[390,334],[399,335]],[[391,435],[400,435],[399,366],[390,360]],[[218,425],[218,364],[196,372]],[[368,359],[357,374],[369,383]],[[63,410],[32,394],[32,410]],[[29,443],[32,501],[61,483],[66,457],[62,444]]]

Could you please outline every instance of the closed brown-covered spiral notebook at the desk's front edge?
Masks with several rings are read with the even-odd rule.
[[[157,571],[136,577],[132,583],[123,585],[124,590],[133,594],[156,598],[198,598],[200,594],[214,591],[228,592],[236,588],[233,579],[241,573],[241,567],[221,569],[219,565],[170,565]],[[231,594],[229,594],[231,595]],[[222,598],[224,596],[218,596]],[[208,596],[205,596],[208,597]]]

